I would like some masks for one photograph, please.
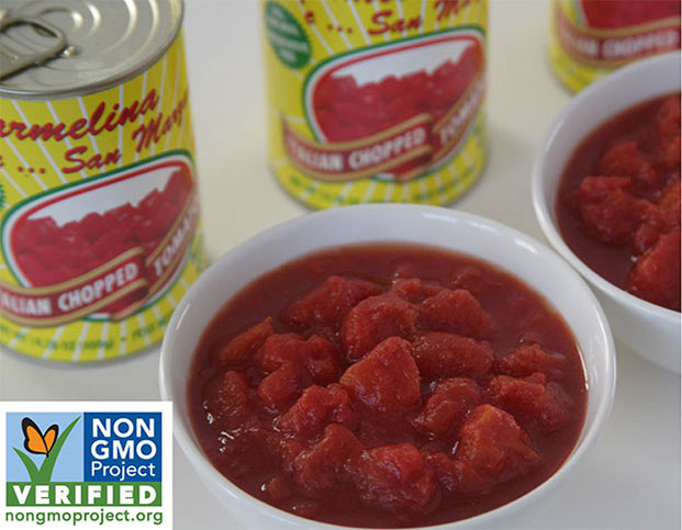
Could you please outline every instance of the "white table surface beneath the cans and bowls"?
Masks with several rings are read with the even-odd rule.
[[[187,0],[185,35],[209,255],[306,213],[269,174],[256,0]],[[535,149],[570,94],[546,60],[549,1],[490,5],[490,158],[454,206],[545,241],[530,204]],[[680,528],[680,376],[617,343],[613,414],[580,476],[524,528]],[[0,399],[158,399],[158,349],[90,365],[0,350]],[[175,528],[242,529],[175,451]]]

